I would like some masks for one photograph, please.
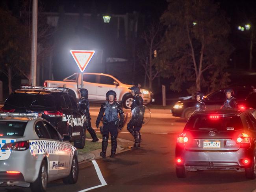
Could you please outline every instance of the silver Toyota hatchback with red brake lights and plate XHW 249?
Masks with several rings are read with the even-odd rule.
[[[177,137],[176,175],[233,170],[256,178],[256,119],[251,111],[220,109],[192,114]]]

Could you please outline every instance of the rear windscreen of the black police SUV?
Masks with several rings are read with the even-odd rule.
[[[55,107],[55,98],[50,95],[14,93],[6,100],[7,105],[26,108]]]

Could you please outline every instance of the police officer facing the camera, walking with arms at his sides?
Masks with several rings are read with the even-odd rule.
[[[100,121],[103,118],[103,128],[102,128],[102,152],[100,156],[105,158],[106,151],[108,147],[108,137],[109,132],[111,135],[111,155],[114,157],[115,151],[117,149],[117,129],[122,129],[124,122],[124,111],[120,103],[116,102],[117,94],[113,90],[109,90],[106,93],[107,101],[102,103],[100,108],[100,113],[98,114],[96,120],[96,127],[98,128]],[[118,117],[120,116],[120,119]]]

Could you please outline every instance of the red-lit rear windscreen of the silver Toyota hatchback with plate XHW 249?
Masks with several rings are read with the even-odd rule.
[[[242,122],[239,116],[223,114],[198,114],[189,118],[185,129],[195,131],[236,131],[242,129]]]

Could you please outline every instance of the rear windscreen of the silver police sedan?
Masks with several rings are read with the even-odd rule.
[[[0,121],[0,138],[1,137],[22,137],[27,122],[17,121]]]

